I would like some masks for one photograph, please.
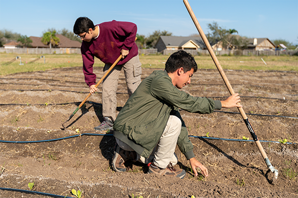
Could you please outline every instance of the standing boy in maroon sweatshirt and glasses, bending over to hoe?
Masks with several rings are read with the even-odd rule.
[[[91,94],[97,91],[96,75],[93,73],[94,56],[105,63],[103,71],[106,73],[119,55],[122,55],[122,59],[102,83],[104,121],[94,128],[98,131],[112,129],[116,119],[116,90],[121,69],[124,69],[129,96],[141,83],[142,64],[135,43],[137,25],[113,20],[94,26],[89,18],[79,17],[74,23],[74,34],[82,40],[83,73]]]

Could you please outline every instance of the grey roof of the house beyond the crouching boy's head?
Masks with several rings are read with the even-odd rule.
[[[160,39],[165,46],[182,47],[184,44],[192,40],[194,43],[200,46],[200,48],[206,48],[201,37],[160,36]]]

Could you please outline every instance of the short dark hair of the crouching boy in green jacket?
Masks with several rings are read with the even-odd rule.
[[[168,73],[174,73],[180,67],[183,68],[184,72],[188,72],[191,69],[194,69],[194,72],[198,70],[195,58],[184,50],[171,54],[165,63],[165,70]]]

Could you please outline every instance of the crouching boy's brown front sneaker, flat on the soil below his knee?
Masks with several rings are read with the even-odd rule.
[[[149,163],[148,166],[149,166],[148,173],[155,173],[156,175],[179,177],[180,179],[183,179],[184,176],[186,175],[185,170],[180,168],[175,169],[171,162],[164,169],[159,168],[158,166],[155,166],[152,162]]]

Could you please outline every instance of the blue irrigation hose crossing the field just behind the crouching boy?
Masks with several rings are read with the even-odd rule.
[[[36,141],[5,141],[0,140],[1,143],[42,143],[42,142],[54,142],[59,140],[65,140],[69,138],[75,138],[75,137],[81,137],[81,136],[113,136],[113,134],[97,134],[97,133],[82,133],[74,136],[68,136],[64,138],[56,138],[51,140],[36,140]],[[226,138],[211,138],[211,137],[204,137],[204,136],[188,136],[192,138],[199,138],[199,139],[210,139],[210,140],[224,140],[224,141],[237,141],[237,142],[254,142],[254,140],[239,140],[239,139],[226,139]],[[260,140],[260,142],[264,143],[280,143],[277,141],[266,141],[266,140]],[[286,143],[288,145],[296,144],[296,143]]]

